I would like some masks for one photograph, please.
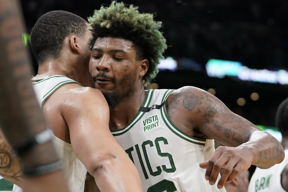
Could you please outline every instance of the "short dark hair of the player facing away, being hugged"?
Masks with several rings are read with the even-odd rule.
[[[31,48],[38,64],[48,58],[59,58],[64,39],[70,34],[84,35],[86,23],[85,19],[62,10],[42,15],[31,32]]]

